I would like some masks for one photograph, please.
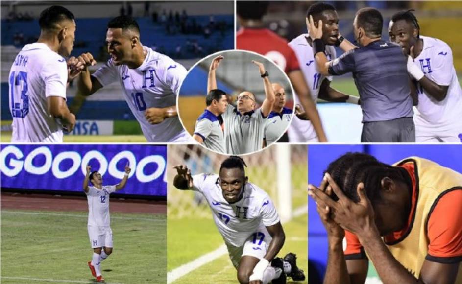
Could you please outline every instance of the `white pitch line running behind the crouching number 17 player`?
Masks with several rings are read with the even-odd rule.
[[[300,206],[296,208],[293,211],[293,217],[298,217],[303,214],[308,213],[308,204],[305,204],[303,206]],[[172,283],[173,281],[176,281],[177,279],[185,276],[186,274],[192,272],[193,270],[201,267],[202,265],[205,265],[213,260],[218,259],[222,255],[225,255],[227,253],[226,245],[221,245],[219,246],[218,249],[207,253],[205,255],[202,255],[198,258],[196,258],[193,261],[190,261],[188,263],[185,263],[179,267],[176,267],[175,269],[169,271],[167,273],[167,284]]]

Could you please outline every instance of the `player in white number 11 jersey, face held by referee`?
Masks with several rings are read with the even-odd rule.
[[[322,21],[322,37],[321,40],[325,45],[325,51],[329,60],[336,58],[335,46],[340,46],[345,51],[354,48],[348,40],[345,40],[339,32],[339,16],[334,6],[322,2],[312,4],[307,11],[306,18],[312,16],[315,23]],[[316,102],[318,98],[331,102],[349,102],[358,104],[359,99],[355,96],[345,95],[332,87],[332,75],[321,74],[315,63],[313,54],[313,39],[309,34],[301,34],[294,38],[289,46],[295,51],[298,62],[301,62],[300,69],[305,76],[305,80],[310,87],[311,97]],[[298,98],[294,98],[295,104],[298,104]],[[303,108],[299,107],[304,113]],[[303,119],[305,120],[305,119]],[[318,138],[313,128],[311,121],[303,121],[298,117],[294,117],[289,127],[290,142],[317,142]]]

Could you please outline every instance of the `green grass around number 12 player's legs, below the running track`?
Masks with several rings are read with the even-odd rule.
[[[106,282],[166,283],[166,215],[111,219],[114,251],[101,263]],[[91,256],[87,213],[1,211],[1,283],[93,283]]]

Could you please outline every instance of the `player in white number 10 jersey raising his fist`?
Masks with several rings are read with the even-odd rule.
[[[170,57],[157,53],[140,41],[140,27],[130,16],[108,23],[107,51],[111,58],[90,75],[96,61],[90,53],[78,59],[85,64],[78,90],[92,95],[113,82],[122,85],[125,100],[141,125],[148,142],[188,142],[176,111],[176,95],[186,69]]]

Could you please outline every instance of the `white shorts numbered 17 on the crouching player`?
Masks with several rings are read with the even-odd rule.
[[[252,256],[261,260],[266,255],[269,243],[273,238],[269,235],[267,230],[261,231],[263,232],[256,232],[250,235],[240,247],[235,247],[226,243],[229,258],[236,269],[238,269],[239,262],[243,256]]]

